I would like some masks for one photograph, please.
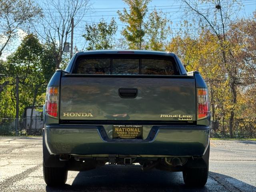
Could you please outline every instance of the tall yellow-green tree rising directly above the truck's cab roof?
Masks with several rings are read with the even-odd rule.
[[[119,19],[128,26],[123,28],[122,35],[128,41],[130,49],[142,49],[145,35],[145,16],[150,0],[124,0],[130,12],[124,8],[123,13],[118,10]]]

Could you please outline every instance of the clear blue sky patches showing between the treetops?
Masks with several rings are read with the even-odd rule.
[[[230,0],[231,1],[231,0]],[[40,6],[48,4],[49,0],[35,0]],[[239,17],[248,17],[256,10],[256,0],[242,0],[244,5],[240,12],[238,13]],[[123,8],[128,8],[128,6],[122,0],[90,0],[90,10],[82,18],[81,22],[74,28],[74,45],[78,47],[78,50],[84,50],[86,47],[85,40],[82,37],[82,34],[85,33],[84,26],[85,24],[97,23],[101,18],[104,18],[106,22],[110,22],[111,18],[114,17],[118,25],[118,30],[116,33],[116,39],[121,37],[122,28],[125,26],[124,23],[120,22],[118,19],[118,10],[123,10]],[[180,9],[182,4],[181,0],[152,0],[148,4],[148,14],[152,12],[154,8],[158,11],[162,10],[166,14],[167,18],[172,21],[172,30],[178,30],[180,27],[181,20],[184,19],[184,13]],[[207,5],[202,5],[206,7]],[[236,4],[235,4],[236,6]],[[76,19],[76,18],[75,18]],[[20,37],[12,43],[12,50],[15,50],[20,44],[22,38],[24,37],[24,32],[19,30]],[[70,42],[70,40],[68,40]],[[3,55],[3,58],[6,59],[6,56],[11,52],[6,52]]]

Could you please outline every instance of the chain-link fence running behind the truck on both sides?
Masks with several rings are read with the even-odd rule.
[[[16,123],[18,124],[16,128]],[[31,128],[30,128],[31,126]],[[0,135],[41,135],[44,126],[42,117],[0,119]],[[234,120],[234,138],[256,138],[256,121]],[[211,137],[229,138],[229,120],[212,121]]]

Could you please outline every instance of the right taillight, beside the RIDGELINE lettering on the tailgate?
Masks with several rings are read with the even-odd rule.
[[[207,88],[197,89],[197,119],[206,118],[210,114],[210,102]]]

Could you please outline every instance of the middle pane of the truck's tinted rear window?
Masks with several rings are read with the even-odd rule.
[[[113,59],[112,74],[139,74],[139,59]]]

